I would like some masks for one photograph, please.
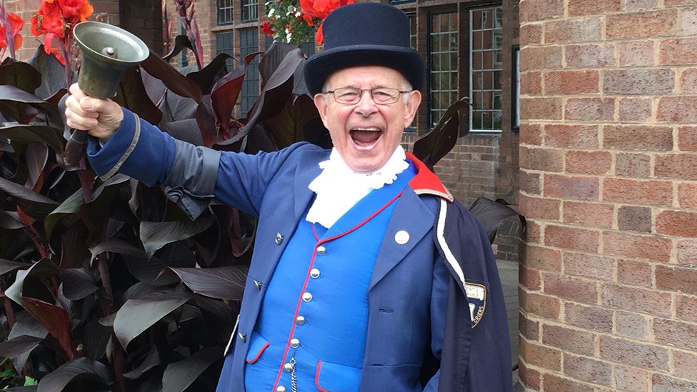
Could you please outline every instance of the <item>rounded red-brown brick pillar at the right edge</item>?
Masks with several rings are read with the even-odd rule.
[[[697,391],[697,7],[521,0],[527,391]]]

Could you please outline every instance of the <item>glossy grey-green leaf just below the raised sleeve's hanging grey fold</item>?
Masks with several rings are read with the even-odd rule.
[[[215,222],[210,213],[204,213],[196,221],[147,222],[141,221],[141,241],[148,258],[167,243],[191,238],[206,230]]]

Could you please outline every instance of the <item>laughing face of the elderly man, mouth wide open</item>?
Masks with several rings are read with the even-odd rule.
[[[383,66],[341,69],[326,80],[326,91],[344,87],[361,89],[356,104],[341,104],[334,94],[316,94],[315,105],[341,159],[356,173],[371,173],[387,163],[401,142],[402,132],[416,114],[421,93],[399,94],[393,104],[376,104],[366,90],[376,88],[408,91],[398,71]]]

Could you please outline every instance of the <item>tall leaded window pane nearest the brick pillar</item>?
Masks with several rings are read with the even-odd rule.
[[[501,131],[501,15],[501,6],[470,10],[472,131]]]

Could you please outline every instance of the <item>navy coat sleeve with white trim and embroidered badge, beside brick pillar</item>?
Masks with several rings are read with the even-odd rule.
[[[436,247],[451,273],[438,391],[511,392],[506,305],[483,228],[459,203],[443,203],[436,223]]]

